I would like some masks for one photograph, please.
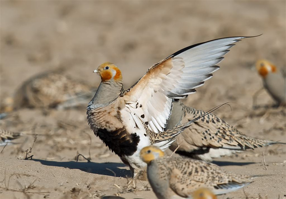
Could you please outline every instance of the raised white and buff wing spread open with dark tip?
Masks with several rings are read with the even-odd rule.
[[[164,131],[174,99],[185,98],[212,77],[212,72],[233,43],[246,37],[229,37],[188,46],[154,64],[122,97],[123,115],[136,131],[138,122],[156,133]]]

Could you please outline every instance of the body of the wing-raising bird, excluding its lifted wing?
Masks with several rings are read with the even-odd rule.
[[[105,70],[108,70],[104,70],[106,67],[110,70],[118,70],[112,63],[102,64],[98,70],[100,71],[103,68],[103,74],[101,74],[103,79],[106,77]],[[130,166],[133,174],[137,174],[140,169],[146,167],[146,163],[140,159],[139,155],[143,147],[146,145],[156,145],[163,150],[167,149],[173,142],[173,138],[188,128],[192,124],[192,121],[160,133],[155,133],[148,128],[148,123],[152,121],[139,120],[138,115],[136,115],[136,109],[141,108],[143,105],[139,104],[138,101],[132,105],[130,97],[127,95],[126,98],[123,97],[124,90],[122,89],[121,81],[122,77],[119,76],[119,79],[115,78],[113,82],[100,84],[96,95],[88,106],[88,123],[95,135],[102,139],[110,150],[116,153],[126,165]],[[102,98],[106,90],[110,92],[108,96]],[[104,103],[106,97],[110,101]],[[134,113],[130,114],[131,110]],[[169,111],[170,109],[168,109]],[[144,112],[140,112],[139,110],[138,113],[141,119],[145,118]]]

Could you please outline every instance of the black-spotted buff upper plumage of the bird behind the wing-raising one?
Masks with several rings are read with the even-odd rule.
[[[180,109],[178,111],[182,113],[182,118],[172,118],[171,115],[170,120],[177,120],[179,123],[190,121],[205,113],[202,110],[187,107],[182,103],[176,103],[173,111],[176,111],[176,109]],[[184,152],[187,152],[189,156],[192,156],[191,153],[193,155],[196,155],[196,152],[203,153],[200,150],[203,147],[245,150],[276,143],[275,141],[249,137],[212,113],[195,121],[191,127],[178,135],[177,139],[179,142],[184,140],[177,150],[178,153],[186,155]],[[170,148],[174,150],[177,146],[177,143],[174,142]],[[205,152],[208,152],[208,150]]]

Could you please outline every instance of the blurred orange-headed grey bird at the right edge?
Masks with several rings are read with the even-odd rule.
[[[262,77],[264,88],[277,105],[286,105],[286,70],[279,70],[267,60],[258,60],[256,69]]]

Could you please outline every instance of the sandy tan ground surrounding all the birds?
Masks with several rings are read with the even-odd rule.
[[[184,102],[205,111],[225,103],[216,115],[243,133],[286,142],[286,113],[266,92],[252,109],[262,82],[252,66],[266,58],[285,67],[285,1],[1,1],[1,100],[24,80],[65,67],[66,74],[97,86],[92,73],[116,63],[125,88],[152,64],[188,45],[227,36],[255,36],[227,54],[212,79]],[[266,106],[266,107],[265,107]],[[1,128],[37,133],[1,147],[1,198],[155,198],[148,182],[128,182],[126,167],[89,129],[85,107],[20,109]],[[32,160],[23,160],[26,150]],[[262,165],[263,154],[267,170]],[[78,153],[82,157],[76,162]],[[286,147],[251,150],[214,163],[259,177],[243,190],[219,198],[285,198]]]

